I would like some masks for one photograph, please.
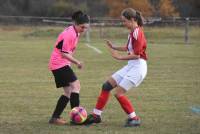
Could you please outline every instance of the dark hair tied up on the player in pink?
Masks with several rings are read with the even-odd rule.
[[[76,11],[73,13],[72,20],[78,25],[84,24],[84,23],[89,23],[89,16],[79,10],[79,11]]]

